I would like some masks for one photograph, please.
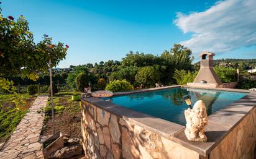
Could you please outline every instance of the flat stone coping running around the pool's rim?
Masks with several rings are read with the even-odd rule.
[[[155,90],[163,90],[167,88],[180,87],[180,85],[172,85],[168,87],[148,88],[143,90],[134,90],[130,92],[117,92],[114,96],[129,95],[132,93],[143,93],[152,92]],[[199,87],[188,87],[185,88],[199,88]],[[215,113],[208,116],[209,123],[206,126],[205,134],[208,136],[208,142],[191,142],[186,139],[184,130],[185,126],[176,124],[165,119],[160,119],[149,114],[140,113],[138,111],[130,110],[124,106],[116,105],[109,101],[105,101],[101,98],[81,98],[81,101],[87,101],[99,108],[108,111],[109,113],[115,114],[127,121],[133,122],[134,124],[143,127],[144,129],[151,131],[155,134],[159,134],[167,139],[172,140],[183,147],[189,148],[198,152],[200,155],[206,157],[213,148],[216,147],[219,142],[234,129],[256,106],[256,92],[250,90],[240,90],[231,88],[200,88],[210,90],[222,90],[231,92],[244,92],[249,93],[245,97],[231,103],[231,105],[216,111]]]

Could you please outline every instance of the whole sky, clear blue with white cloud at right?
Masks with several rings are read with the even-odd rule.
[[[160,55],[174,43],[191,48],[195,61],[203,50],[256,58],[254,0],[0,1],[4,16],[25,16],[35,42],[46,33],[70,46],[58,67],[121,60],[129,51]]]

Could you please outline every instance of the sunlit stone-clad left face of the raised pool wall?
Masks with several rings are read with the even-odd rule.
[[[137,126],[122,116],[109,113],[84,100],[81,103],[83,148],[90,159],[199,158],[158,134]]]

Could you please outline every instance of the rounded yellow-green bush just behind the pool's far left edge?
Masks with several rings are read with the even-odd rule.
[[[114,80],[107,85],[106,90],[110,90],[112,92],[123,92],[134,90],[134,87],[126,80]]]

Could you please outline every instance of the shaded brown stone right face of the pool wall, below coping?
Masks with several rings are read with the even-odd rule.
[[[211,151],[209,158],[256,158],[256,108]]]

